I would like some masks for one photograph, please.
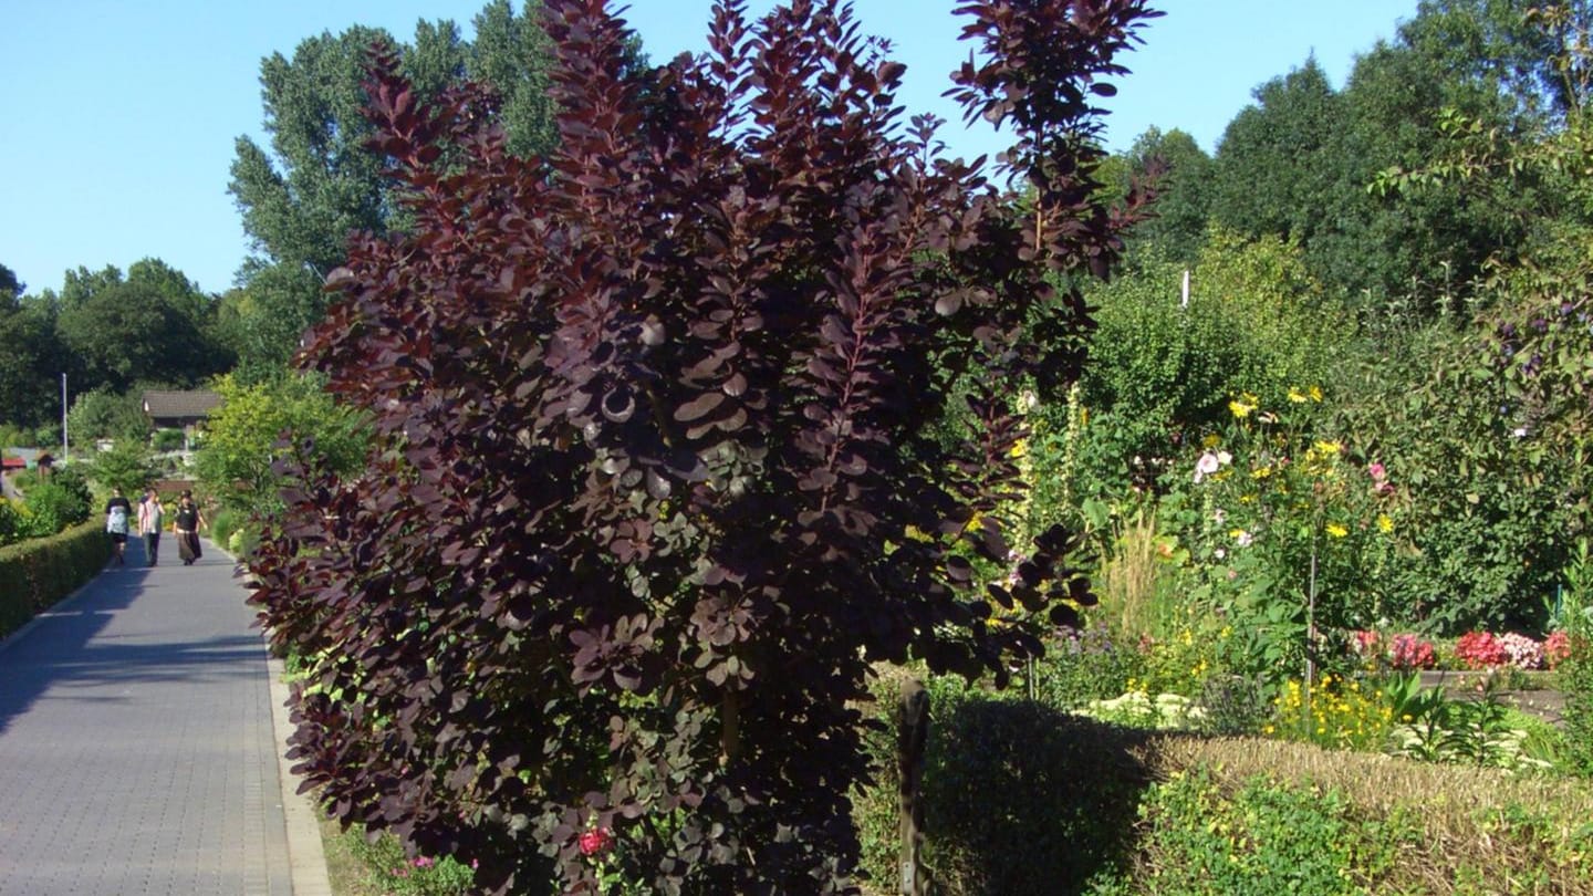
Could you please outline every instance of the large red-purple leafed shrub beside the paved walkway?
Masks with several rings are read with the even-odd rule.
[[[1088,92],[1153,13],[959,10],[988,61],[957,96],[1016,128],[1020,202],[935,159],[929,121],[903,136],[902,65],[843,3],[723,3],[710,53],[645,84],[601,0],[548,10],[545,164],[487,99],[417,108],[376,61],[416,225],[354,242],[304,352],[376,438],[358,478],[287,464],[253,566],[307,663],[293,756],[336,818],[489,891],[594,893],[594,829],[648,891],[849,891],[870,663],[1004,679],[1088,601],[1067,532],[1013,584],[975,561],[1008,553],[1016,389],[1082,362],[1053,284],[1137,214],[1101,206]]]

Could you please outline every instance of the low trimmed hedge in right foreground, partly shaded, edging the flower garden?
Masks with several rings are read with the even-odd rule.
[[[855,800],[875,893],[897,880],[884,676]],[[1593,789],[1262,738],[1137,732],[929,679],[935,893],[1593,893]]]

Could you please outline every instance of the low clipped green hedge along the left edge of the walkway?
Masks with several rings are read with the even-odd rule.
[[[97,576],[108,560],[110,539],[97,520],[0,548],[0,638]]]

